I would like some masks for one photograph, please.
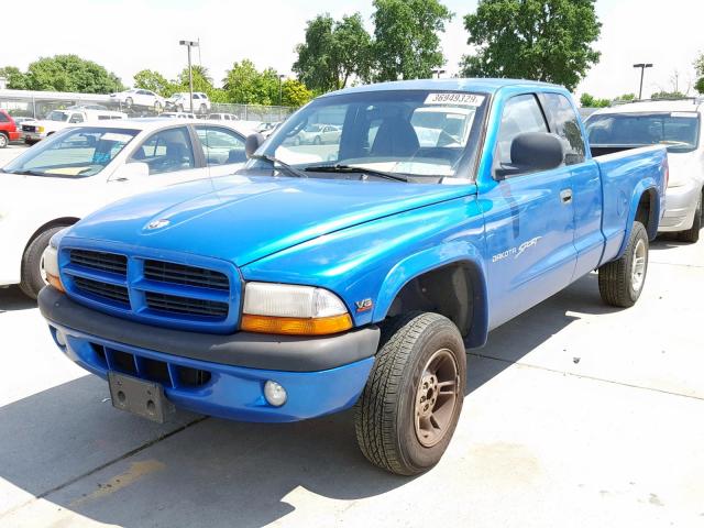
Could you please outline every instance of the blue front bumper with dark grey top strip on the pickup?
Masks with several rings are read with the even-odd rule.
[[[296,421],[351,407],[366,384],[380,334],[376,327],[305,339],[184,332],[106,316],[51,287],[38,305],[59,349],[85,370],[157,382],[176,407],[242,421]],[[248,366],[253,364],[268,366]],[[316,365],[327,366],[301,370]],[[288,394],[282,407],[264,398],[268,380]]]

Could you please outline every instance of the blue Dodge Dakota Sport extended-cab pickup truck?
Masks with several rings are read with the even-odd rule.
[[[595,152],[565,89],[518,80],[344,89],[248,155],[57,233],[56,344],[153,420],[355,406],[364,455],[404,475],[440,460],[490,330],[594,270],[637,301],[668,174],[664,147]]]

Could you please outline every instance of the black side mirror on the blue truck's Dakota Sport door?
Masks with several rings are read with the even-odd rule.
[[[518,134],[510,144],[510,161],[495,169],[496,179],[558,168],[564,162],[562,142],[548,132]]]

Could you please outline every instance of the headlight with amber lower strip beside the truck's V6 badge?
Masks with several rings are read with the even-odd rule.
[[[249,332],[327,336],[352,328],[344,302],[312,286],[248,283],[241,328]]]

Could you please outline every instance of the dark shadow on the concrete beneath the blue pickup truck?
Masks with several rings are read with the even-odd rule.
[[[495,360],[470,356],[469,397],[579,318],[568,310],[608,311],[594,276],[492,332],[479,352]],[[0,524],[14,510],[7,519],[21,525],[41,503],[18,507],[38,496],[52,505],[47,524],[76,513],[130,528],[261,527],[299,508],[316,513],[311,495],[352,501],[409,482],[366,462],[353,411],[286,425],[179,415],[157,426],[112,409],[108,396],[85,376],[0,407],[0,477],[18,488],[0,490]]]

